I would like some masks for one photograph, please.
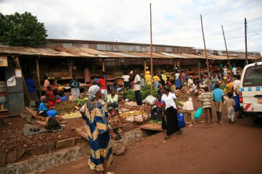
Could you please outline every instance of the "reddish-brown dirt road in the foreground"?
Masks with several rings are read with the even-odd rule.
[[[226,120],[224,120],[226,121]],[[128,144],[128,151],[114,156],[108,171],[129,173],[262,173],[262,125],[248,118],[236,124],[194,125],[172,135],[161,143],[164,134],[157,133],[141,142]],[[70,162],[46,174],[94,173],[88,159]]]

